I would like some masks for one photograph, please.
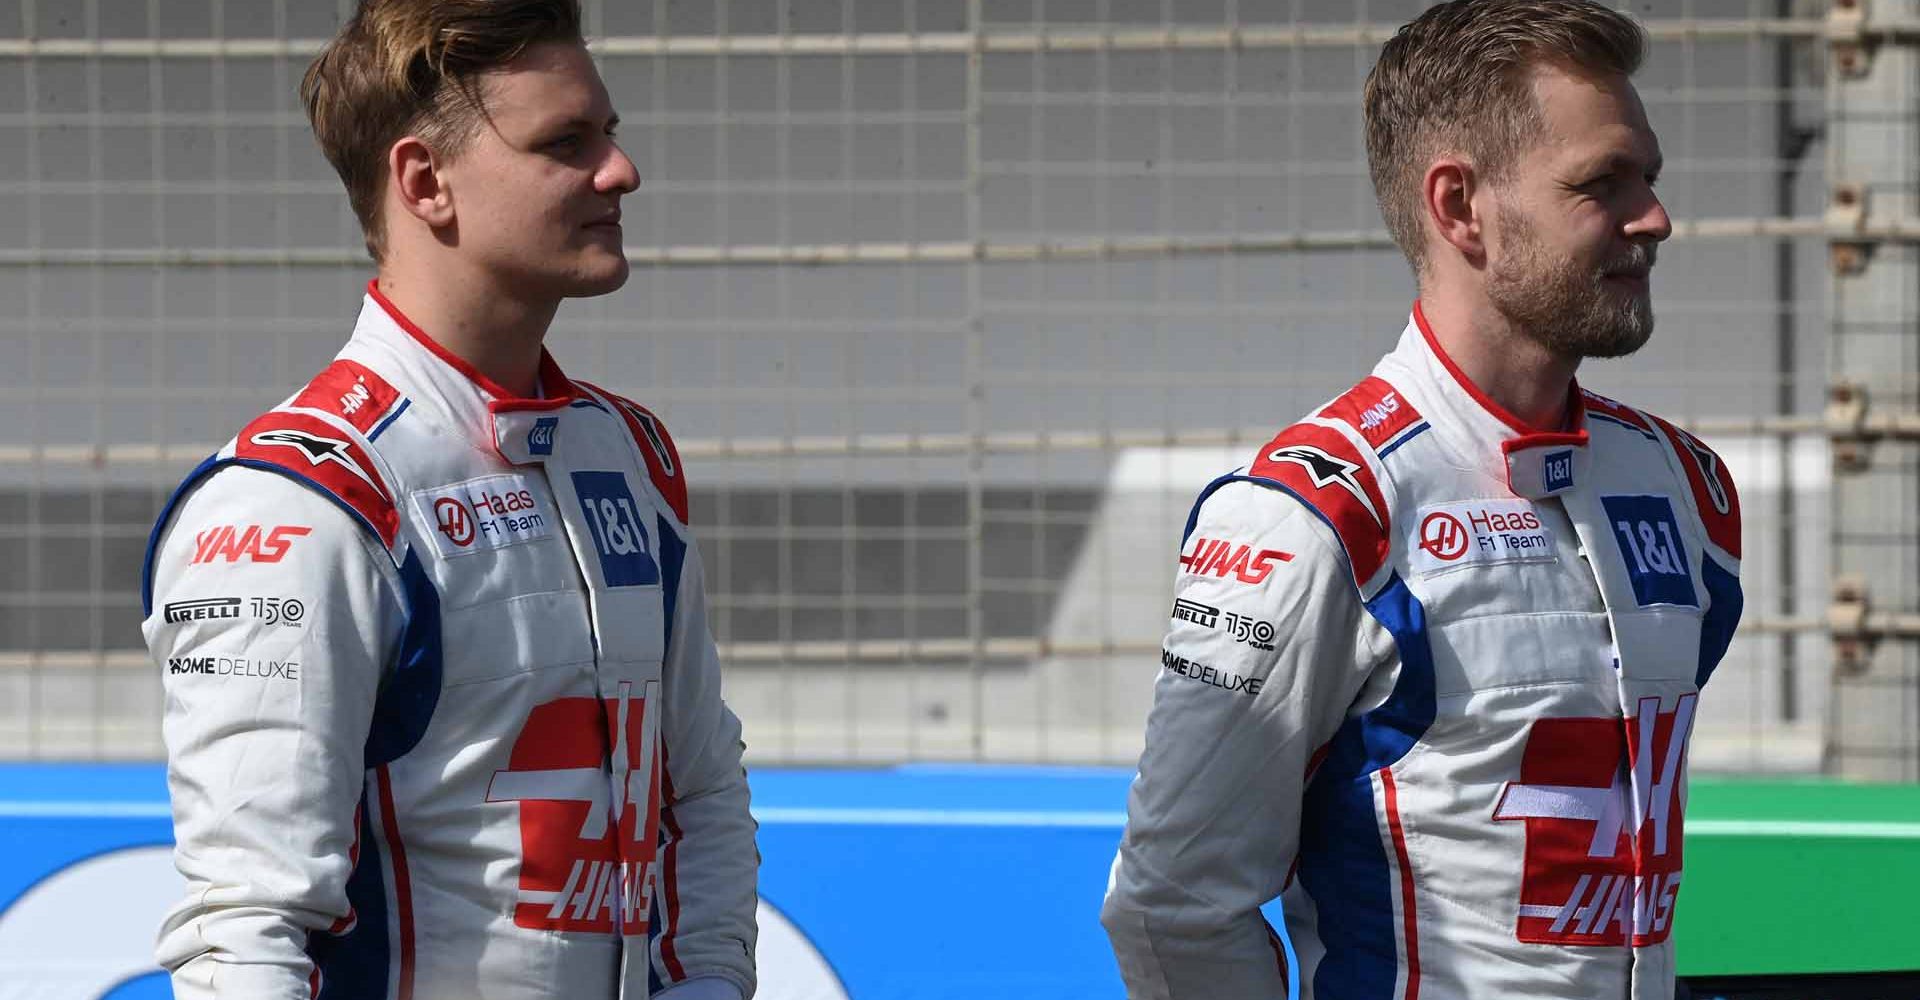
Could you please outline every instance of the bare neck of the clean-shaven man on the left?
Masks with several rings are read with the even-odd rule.
[[[540,395],[540,349],[559,301],[522,301],[470,274],[380,267],[380,294],[436,344],[518,397]]]

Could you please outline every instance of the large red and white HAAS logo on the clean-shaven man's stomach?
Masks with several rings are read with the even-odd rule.
[[[528,714],[486,793],[520,804],[516,925],[647,933],[660,841],[659,693],[660,681],[639,697],[622,681],[618,699],[555,699]]]

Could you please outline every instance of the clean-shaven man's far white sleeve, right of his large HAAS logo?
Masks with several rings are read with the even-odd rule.
[[[747,810],[739,720],[720,701],[720,655],[707,628],[707,574],[685,536],[662,676],[666,798],[653,940],[660,983],[722,979],[753,996],[760,850]]]

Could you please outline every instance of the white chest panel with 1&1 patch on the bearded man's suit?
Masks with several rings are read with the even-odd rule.
[[[1615,476],[1526,499],[1452,472],[1413,476],[1419,493],[1396,503],[1396,568],[1427,616],[1442,712],[1446,699],[1471,710],[1473,693],[1538,687],[1544,710],[1617,714],[1622,670],[1692,678],[1699,607],[1663,603],[1697,591],[1670,484]]]

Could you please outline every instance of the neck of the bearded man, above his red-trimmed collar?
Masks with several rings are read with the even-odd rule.
[[[1488,399],[1534,430],[1567,426],[1580,359],[1561,357],[1517,330],[1484,298],[1423,290],[1421,313],[1440,349]]]

